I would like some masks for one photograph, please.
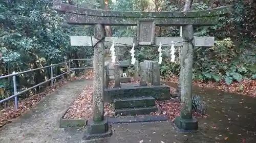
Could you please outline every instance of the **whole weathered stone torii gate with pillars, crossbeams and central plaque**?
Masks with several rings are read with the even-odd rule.
[[[189,32],[183,30],[182,38],[155,38],[154,27],[156,26],[205,26],[215,25],[221,15],[227,14],[231,7],[220,7],[216,9],[191,12],[137,12],[137,11],[103,11],[87,8],[80,8],[59,2],[54,2],[57,11],[66,13],[66,20],[69,24],[95,25],[94,37],[71,37],[71,44],[76,46],[94,47],[94,95],[93,95],[93,120],[88,122],[87,132],[83,139],[105,137],[112,134],[108,122],[103,117],[103,94],[104,94],[104,40],[131,45],[155,45],[171,44],[170,41],[186,41],[183,48],[188,46],[188,42],[195,46],[212,46],[212,37],[194,37]],[[137,38],[117,38],[105,37],[104,25],[126,25],[138,26]],[[194,38],[193,38],[194,37]],[[110,39],[109,39],[110,38]],[[90,40],[89,40],[90,39]],[[193,40],[194,39],[194,40]],[[91,44],[92,43],[92,44]],[[110,43],[111,44],[111,43]],[[176,44],[182,46],[182,44]],[[187,48],[186,48],[187,49]],[[186,59],[185,59],[186,60]],[[192,76],[187,76],[187,78]],[[191,81],[190,79],[188,81]],[[192,87],[192,82],[184,83],[186,87]],[[191,88],[189,88],[191,93]],[[197,129],[198,123],[192,117],[192,95],[187,92],[182,94],[188,101],[184,101],[181,115],[176,120],[178,128]],[[190,108],[191,106],[191,108]]]

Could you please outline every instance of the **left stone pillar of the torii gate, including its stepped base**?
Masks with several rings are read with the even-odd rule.
[[[110,136],[111,126],[103,118],[104,114],[104,26],[96,24],[94,28],[94,38],[97,43],[94,46],[94,92],[93,92],[93,119],[88,121],[87,131],[83,139],[95,139]]]

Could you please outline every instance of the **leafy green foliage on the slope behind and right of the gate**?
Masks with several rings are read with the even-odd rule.
[[[118,1],[123,2],[124,1]],[[127,2],[126,2],[127,3]],[[130,8],[132,2],[129,2]],[[232,2],[231,2],[232,3]],[[234,4],[234,12],[226,17],[221,17],[219,24],[214,26],[195,27],[195,36],[214,36],[216,43],[214,47],[195,47],[193,77],[195,80],[216,81],[224,80],[227,84],[240,82],[243,79],[255,79],[256,74],[256,43],[252,37],[253,32],[248,33],[247,28],[255,29],[253,15],[255,9],[253,5],[247,2],[238,2]],[[128,5],[127,5],[128,6]],[[163,1],[160,6],[162,11],[182,11],[183,6],[170,1]],[[204,10],[210,6],[205,3],[193,3],[193,10]],[[249,21],[247,21],[249,20]],[[129,32],[130,31],[130,32]],[[132,31],[132,32],[131,32]],[[135,36],[133,28],[122,29],[126,36]],[[117,36],[122,36],[119,30]],[[161,36],[179,37],[180,28],[169,26],[163,27]],[[158,52],[156,47],[144,47],[136,51],[136,58],[139,61],[157,60]],[[155,53],[155,54],[152,54]],[[168,76],[170,74],[179,74],[179,59],[170,63],[169,51],[163,52],[163,62],[160,67],[161,74]],[[178,51],[176,52],[178,53]],[[178,57],[178,54],[176,55]],[[129,57],[130,58],[130,57]]]

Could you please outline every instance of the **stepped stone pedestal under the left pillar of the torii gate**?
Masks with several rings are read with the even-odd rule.
[[[90,140],[95,138],[109,137],[113,134],[111,125],[104,119],[103,121],[89,120],[87,123],[86,133],[83,136],[83,140]]]

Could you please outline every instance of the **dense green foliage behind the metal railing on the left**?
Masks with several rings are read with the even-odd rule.
[[[79,54],[80,58],[92,55],[92,50],[70,47],[69,37],[90,34],[91,30],[65,23],[50,1],[34,4],[33,0],[21,0],[10,5],[6,2],[0,2],[0,75],[64,62]],[[63,66],[55,67],[58,72],[55,74],[60,74],[65,69]],[[45,81],[50,75],[48,69],[43,69],[17,76],[17,79],[19,77],[18,90]],[[9,80],[12,81],[11,78],[0,80],[0,87],[5,89],[0,100],[13,94],[10,84],[6,84]]]

